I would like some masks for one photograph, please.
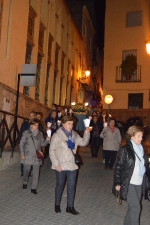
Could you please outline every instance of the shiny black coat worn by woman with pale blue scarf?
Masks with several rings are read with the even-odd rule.
[[[148,169],[148,159],[144,153],[145,167]],[[115,187],[121,186],[120,198],[127,200],[128,188],[135,166],[135,153],[130,140],[118,151],[117,160],[114,168],[113,194],[116,194]]]

